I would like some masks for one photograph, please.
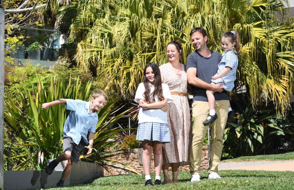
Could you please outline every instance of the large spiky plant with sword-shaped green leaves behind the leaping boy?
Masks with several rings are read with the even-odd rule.
[[[37,76],[38,78],[38,76]],[[13,170],[21,169],[44,169],[46,164],[41,164],[40,160],[56,158],[63,152],[61,146],[63,126],[66,117],[70,111],[65,109],[64,104],[51,106],[48,109],[42,110],[41,104],[44,102],[54,101],[60,98],[81,99],[89,101],[91,98],[91,82],[81,86],[81,82],[77,79],[74,86],[71,86],[71,80],[66,86],[57,79],[51,78],[51,84],[48,91],[44,90],[44,84],[38,79],[37,87],[33,86],[33,92],[29,93],[26,89],[24,93],[16,89],[19,93],[20,103],[16,104],[10,98],[5,101],[8,111],[4,112],[5,131],[16,131],[15,133],[6,133],[5,145],[7,150],[12,147],[12,151],[7,151],[4,160],[7,160],[6,168]],[[79,90],[81,88],[81,90]],[[94,134],[93,152],[86,156],[87,149],[84,149],[80,159],[83,161],[95,162],[103,167],[112,166],[107,162],[118,162],[109,160],[110,157],[117,154],[106,154],[105,148],[116,139],[113,137],[117,132],[123,131],[120,127],[113,127],[121,116],[129,110],[115,115],[119,107],[114,107],[114,104],[119,99],[109,100],[105,106],[97,112],[99,120]],[[19,119],[25,116],[21,122]],[[22,123],[19,125],[19,123]],[[10,135],[10,137],[8,137]],[[16,141],[11,141],[11,139]],[[9,141],[10,140],[10,141]],[[12,143],[10,143],[12,142]],[[17,143],[15,143],[17,142]],[[22,146],[22,149],[21,147]],[[26,148],[33,146],[34,149]],[[37,151],[36,151],[37,149]],[[96,152],[97,151],[97,152]],[[31,161],[31,162],[29,162]],[[126,171],[137,173],[133,168],[122,164]],[[106,168],[107,169],[107,168]]]

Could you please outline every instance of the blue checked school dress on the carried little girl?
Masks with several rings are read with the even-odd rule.
[[[234,50],[235,51],[235,50]],[[211,80],[214,83],[224,83],[221,85],[226,91],[231,91],[234,88],[234,81],[236,80],[236,72],[238,67],[238,56],[232,51],[225,51],[222,54],[220,63],[218,64],[218,71],[214,76],[217,76],[228,66],[231,70],[223,77]]]

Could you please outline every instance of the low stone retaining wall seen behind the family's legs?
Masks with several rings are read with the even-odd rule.
[[[142,149],[130,149],[130,152],[133,152],[133,153],[118,154],[117,156],[111,157],[110,159],[122,162],[128,166],[131,166],[133,169],[136,169],[138,173],[143,174],[144,169],[143,169],[142,160],[141,160]],[[108,163],[108,164],[114,165],[117,167],[123,167],[121,164],[118,164],[118,163]],[[108,169],[111,173],[108,173],[106,170],[104,170],[104,176],[129,174],[128,172],[123,171],[122,169],[117,169],[112,167],[108,167]],[[171,167],[169,169],[170,169],[169,172],[171,172]],[[203,145],[203,148],[202,148],[202,163],[201,163],[200,170],[207,170],[207,169],[208,169],[208,145],[206,144],[206,145]],[[179,171],[190,171],[189,165],[180,166]],[[153,153],[151,155],[150,172],[151,173],[155,172]]]

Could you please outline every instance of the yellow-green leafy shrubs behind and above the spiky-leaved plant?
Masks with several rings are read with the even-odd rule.
[[[10,83],[5,86],[5,100],[7,97],[10,97],[13,102],[20,102],[20,96],[18,90],[24,92],[24,90],[29,91],[32,94],[33,87],[38,85],[38,78],[42,81],[44,85],[44,90],[48,91],[51,84],[51,78],[56,76],[57,79],[63,81],[64,84],[69,84],[71,80],[71,87],[74,87],[77,80],[81,82],[81,86],[88,81],[92,82],[90,91],[96,89],[102,89],[106,92],[109,99],[114,99],[117,97],[117,94],[113,89],[109,89],[108,86],[111,86],[111,80],[107,77],[92,77],[90,73],[79,69],[77,67],[69,68],[71,62],[67,55],[60,56],[56,61],[54,66],[49,70],[38,67],[39,65],[31,65],[30,63],[24,63],[24,67],[14,66],[11,67],[10,73],[7,75]],[[18,89],[18,90],[16,90]],[[5,107],[5,110],[6,107]]]

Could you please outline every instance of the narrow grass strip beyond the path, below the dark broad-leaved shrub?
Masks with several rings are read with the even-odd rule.
[[[287,152],[287,153],[284,153],[284,154],[241,156],[241,157],[238,157],[238,158],[222,160],[222,162],[262,161],[262,160],[294,160],[294,152]]]

